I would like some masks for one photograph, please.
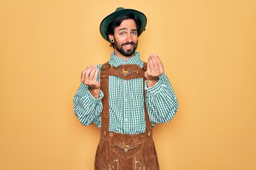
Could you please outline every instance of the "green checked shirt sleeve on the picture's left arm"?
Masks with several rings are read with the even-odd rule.
[[[97,65],[100,70],[101,65]],[[100,72],[97,80],[100,81]],[[102,98],[103,92],[100,91],[100,97],[94,98],[85,84],[80,84],[78,91],[76,92],[73,102],[75,115],[80,120],[82,125],[90,125],[95,123],[100,127],[100,115],[102,113]]]

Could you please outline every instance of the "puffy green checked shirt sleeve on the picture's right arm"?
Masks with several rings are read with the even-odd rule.
[[[178,111],[178,101],[165,74],[161,74],[154,86],[147,87],[145,81],[145,91],[146,109],[151,123],[166,123],[174,118]]]

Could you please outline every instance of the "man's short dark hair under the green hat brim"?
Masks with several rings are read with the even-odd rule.
[[[120,26],[120,24],[122,23],[122,21],[126,20],[126,19],[133,19],[136,23],[137,26],[137,31],[140,30],[141,26],[142,26],[142,21],[139,20],[139,18],[137,18],[137,16],[134,16],[134,14],[129,13],[129,14],[124,14],[122,16],[119,16],[117,18],[114,19],[114,21],[112,21],[108,26],[107,26],[107,40],[110,40],[110,38],[108,37],[109,34],[114,35],[114,28],[116,28],[117,26]],[[113,45],[113,43],[112,43]]]

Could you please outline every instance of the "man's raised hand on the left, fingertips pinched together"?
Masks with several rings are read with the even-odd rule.
[[[100,82],[97,81],[97,67],[91,65],[81,73],[81,82],[89,87],[89,91],[95,98],[100,97]]]

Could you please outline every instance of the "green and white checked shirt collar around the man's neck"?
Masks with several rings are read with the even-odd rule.
[[[139,67],[142,67],[143,65],[142,60],[140,60],[139,58],[139,52],[135,52],[134,57],[131,57],[128,60],[123,60],[122,58],[114,55],[114,52],[112,52],[110,57],[110,65],[114,67],[119,67],[119,65],[122,64],[137,64],[139,65]]]

